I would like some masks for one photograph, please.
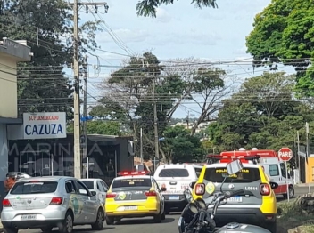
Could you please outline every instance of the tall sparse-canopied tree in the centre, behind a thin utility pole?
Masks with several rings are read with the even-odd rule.
[[[123,68],[104,81],[101,88],[105,92],[100,106],[91,110],[92,115],[97,111],[98,114],[102,112],[102,116],[128,122],[137,139],[142,128],[146,155],[153,155],[154,152],[154,101],[161,135],[178,108],[178,102],[186,96],[186,85],[181,77],[167,76],[163,69],[164,66],[152,52],[145,52],[141,59],[130,58]],[[166,159],[162,149],[161,155]]]

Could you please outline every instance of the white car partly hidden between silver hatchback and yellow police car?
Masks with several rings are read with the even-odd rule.
[[[90,178],[90,179],[80,179],[89,191],[97,197],[103,205],[106,202],[106,194],[109,189],[108,185],[102,180],[97,178]]]

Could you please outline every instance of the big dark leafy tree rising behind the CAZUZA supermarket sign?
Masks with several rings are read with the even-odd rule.
[[[34,53],[31,62],[21,62],[17,70],[19,114],[65,111],[70,117],[71,84],[63,73],[73,56],[70,5],[62,0],[7,0],[0,5],[0,37],[27,40]],[[97,24],[87,21],[80,27],[85,35],[79,40],[80,57],[95,48]]]

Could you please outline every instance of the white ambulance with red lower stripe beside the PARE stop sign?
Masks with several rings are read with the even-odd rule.
[[[264,173],[269,176],[270,181],[278,183],[279,187],[274,189],[276,195],[283,195],[285,198],[287,198],[288,194],[289,198],[294,196],[293,179],[289,173],[288,177],[286,177],[284,162],[278,157],[260,157],[259,165],[263,167]]]

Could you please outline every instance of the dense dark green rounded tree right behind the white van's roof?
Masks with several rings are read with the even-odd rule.
[[[161,148],[169,163],[194,162],[202,155],[199,138],[181,125],[169,126],[163,132]]]

